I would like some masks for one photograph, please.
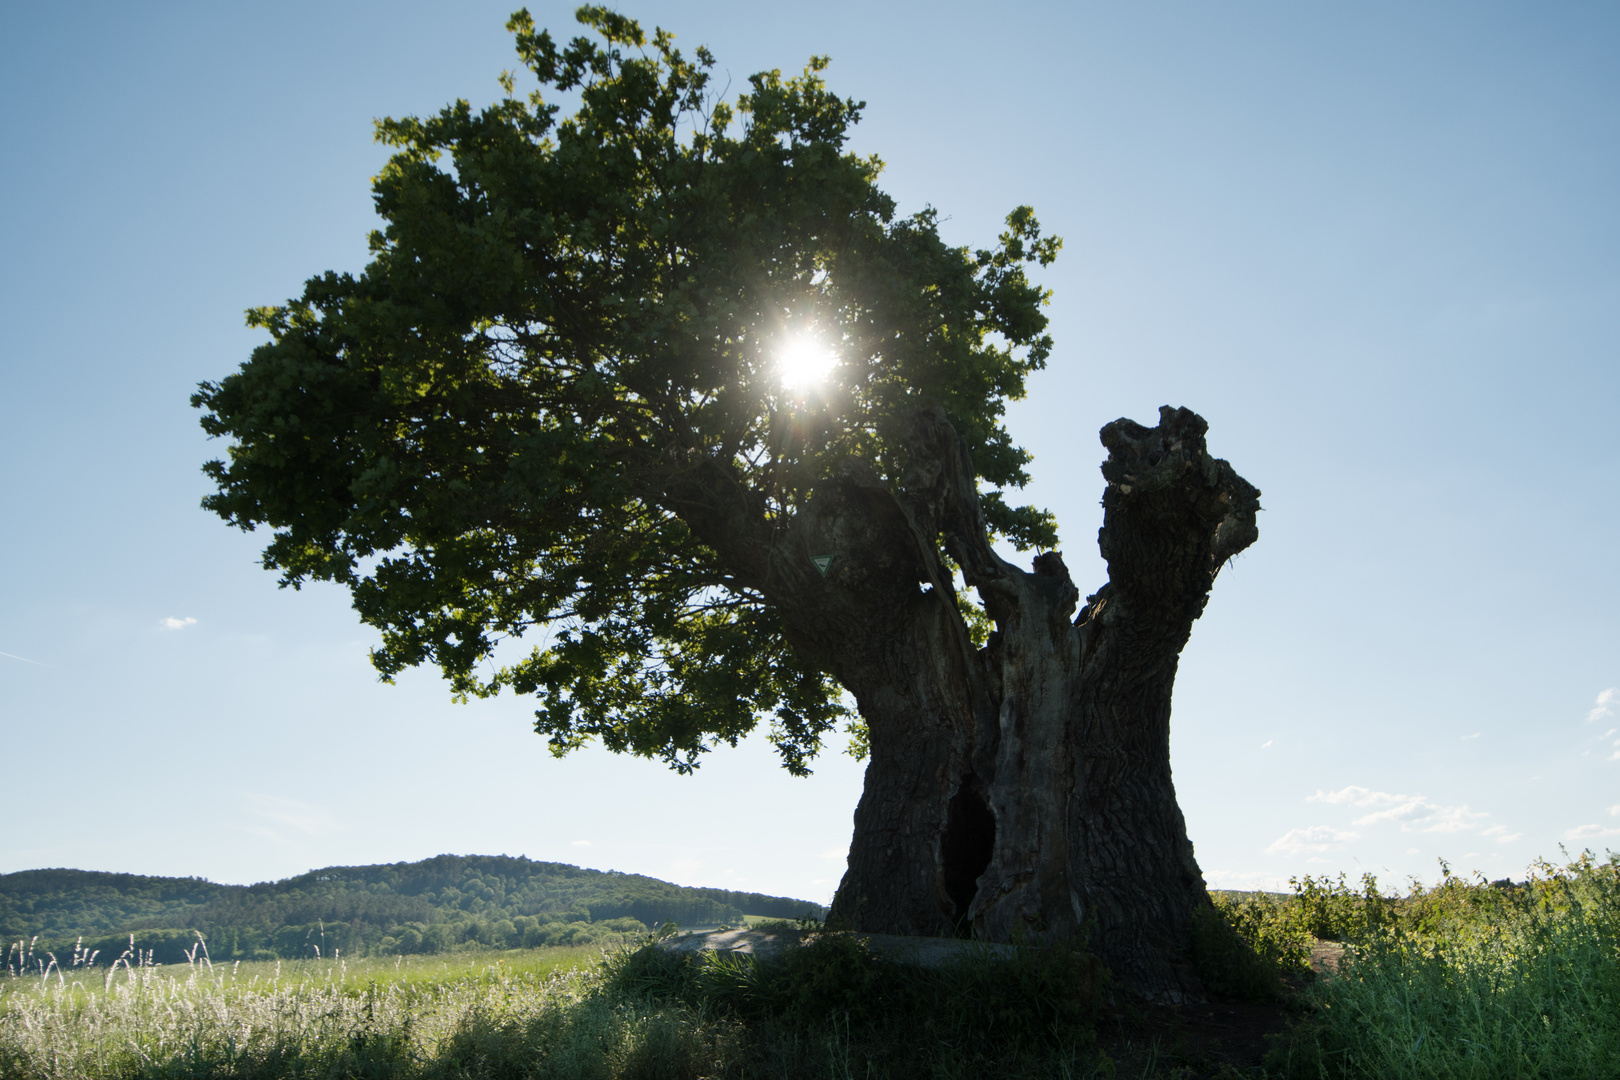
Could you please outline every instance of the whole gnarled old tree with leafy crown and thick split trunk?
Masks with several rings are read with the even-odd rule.
[[[504,74],[481,112],[379,121],[371,264],[251,313],[271,340],[194,397],[232,440],[206,507],[271,526],[284,583],[347,586],[384,677],[531,693],[559,753],[690,769],[763,721],[802,772],[850,721],[834,920],[1085,934],[1136,993],[1197,996],[1170,698],[1259,492],[1187,410],[1108,424],[1081,602],[1051,518],[1001,495],[1056,240],[899,217],[821,58],[727,102],[706,50],[578,18],[561,47],[509,24],[570,113]]]

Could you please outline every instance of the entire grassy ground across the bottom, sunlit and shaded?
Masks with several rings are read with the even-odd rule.
[[[1264,1064],[1173,1046],[1077,947],[917,972],[823,936],[773,963],[577,947],[36,965],[0,976],[0,1077],[1620,1077],[1620,858],[1215,899],[1194,959],[1221,1001],[1286,1028]]]

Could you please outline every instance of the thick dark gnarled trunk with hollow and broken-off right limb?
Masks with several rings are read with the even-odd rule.
[[[849,463],[786,529],[721,470],[682,499],[855,696],[872,756],[831,918],[914,936],[1084,936],[1128,991],[1202,996],[1187,960],[1209,904],[1170,774],[1176,662],[1215,575],[1254,542],[1259,491],[1207,424],[1102,431],[1110,580],[1085,604],[1058,552],[998,557],[943,411],[919,416],[894,492]],[[943,549],[996,631],[975,649]],[[831,555],[826,573],[815,559]]]

